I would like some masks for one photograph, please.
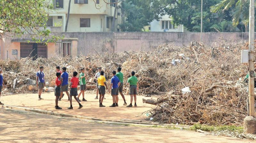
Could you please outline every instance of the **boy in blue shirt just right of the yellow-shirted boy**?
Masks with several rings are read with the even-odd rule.
[[[111,90],[111,95],[113,99],[113,104],[109,107],[118,107],[118,87],[120,86],[120,81],[116,76],[116,71],[112,71],[111,85],[109,88],[109,93]]]

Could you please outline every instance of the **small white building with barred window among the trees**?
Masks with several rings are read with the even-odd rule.
[[[174,26],[171,23],[172,19],[170,19],[169,15],[162,16],[159,21],[153,20],[150,23],[151,32],[164,32],[164,29],[169,29],[168,32],[184,32],[183,25]]]

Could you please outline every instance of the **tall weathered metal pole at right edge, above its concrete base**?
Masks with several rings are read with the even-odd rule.
[[[255,117],[254,111],[254,0],[250,0],[249,17],[249,109],[250,116]]]

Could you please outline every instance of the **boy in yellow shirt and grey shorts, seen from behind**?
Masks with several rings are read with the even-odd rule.
[[[102,105],[104,95],[105,95],[105,91],[106,91],[106,89],[108,90],[108,86],[106,84],[106,78],[104,76],[103,71],[100,72],[100,77],[98,78],[98,84],[99,84],[98,89],[99,89],[99,94],[100,94],[100,100],[99,100],[100,101],[100,107],[106,107],[106,106]],[[105,88],[104,85],[106,86],[106,88]]]

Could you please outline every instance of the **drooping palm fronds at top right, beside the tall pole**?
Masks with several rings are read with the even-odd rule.
[[[211,6],[211,12],[218,11],[227,11],[230,8],[233,8],[232,21],[233,26],[237,26],[240,22],[245,26],[245,30],[247,30],[247,25],[249,23],[249,0],[221,0],[219,4]]]

